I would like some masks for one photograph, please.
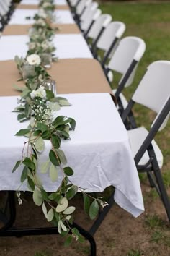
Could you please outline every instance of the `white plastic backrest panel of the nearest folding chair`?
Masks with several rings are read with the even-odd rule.
[[[158,120],[164,104],[170,98],[170,61],[155,61],[148,66],[147,72],[133,94],[132,100],[150,108],[157,113],[153,125]],[[170,109],[169,109],[170,111]],[[169,113],[170,114],[170,113]],[[166,116],[159,130],[164,129],[169,119]]]

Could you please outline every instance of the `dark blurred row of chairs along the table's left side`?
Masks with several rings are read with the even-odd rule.
[[[14,4],[12,0],[0,0],[0,31],[9,22],[13,10]]]

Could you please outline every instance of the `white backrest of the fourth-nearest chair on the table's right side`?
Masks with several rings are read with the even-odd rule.
[[[95,40],[101,30],[104,31],[104,29],[109,25],[109,23],[112,21],[112,16],[109,14],[102,14],[100,15],[97,20],[92,25],[91,29],[89,30],[89,33],[87,33],[88,38],[92,38]]]

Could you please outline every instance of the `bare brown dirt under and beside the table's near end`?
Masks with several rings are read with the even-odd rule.
[[[170,255],[170,226],[164,207],[159,198],[152,194],[153,189],[147,184],[143,184],[142,189],[146,212],[139,218],[133,218],[115,205],[94,236],[98,256],[128,255],[132,250],[138,250],[140,255],[145,256]],[[27,202],[23,205],[17,206],[16,226],[48,226],[40,208],[32,203],[32,198],[28,193],[26,200]],[[77,208],[75,221],[88,230],[90,222],[89,218],[84,215],[84,205],[80,195],[74,200],[74,205]],[[163,223],[162,226],[154,226],[153,223],[151,227],[146,224],[146,220],[153,215],[158,216]],[[158,241],[156,235],[161,237]],[[1,238],[0,256],[88,255],[88,242],[84,244],[75,242],[71,247],[63,247],[63,241],[63,238],[58,235]]]

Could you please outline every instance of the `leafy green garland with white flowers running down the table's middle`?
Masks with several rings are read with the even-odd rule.
[[[69,140],[70,130],[76,127],[76,121],[71,117],[57,116],[54,114],[62,106],[70,106],[66,98],[55,96],[55,81],[51,80],[45,68],[49,68],[55,47],[52,40],[55,35],[53,0],[42,0],[39,4],[39,12],[35,15],[35,24],[30,29],[29,50],[26,58],[15,57],[21,80],[24,80],[24,88],[14,85],[21,91],[20,105],[14,109],[19,112],[17,119],[22,122],[30,120],[26,129],[20,129],[17,136],[27,137],[22,150],[22,158],[17,161],[12,172],[22,166],[21,183],[27,181],[27,187],[32,192],[35,205],[42,206],[45,218],[58,226],[58,233],[68,235],[65,244],[70,244],[72,239],[83,242],[79,231],[73,228],[73,212],[75,207],[68,205],[76,193],[82,192],[84,196],[84,209],[91,219],[97,217],[99,208],[104,208],[107,202],[102,197],[94,198],[86,194],[84,189],[74,185],[69,179],[73,175],[73,169],[66,166],[66,155],[61,150],[61,138]],[[58,179],[58,172],[63,174],[63,180],[56,192],[48,193],[42,186],[37,174],[38,155],[45,148],[45,141],[50,140],[51,149],[49,159],[40,166],[42,174],[49,172],[52,182]],[[63,167],[65,166],[65,167]],[[21,184],[22,185],[22,184]],[[21,193],[17,191],[19,204],[22,204]],[[68,234],[71,233],[71,234]]]

